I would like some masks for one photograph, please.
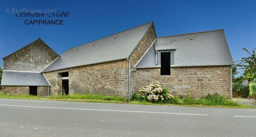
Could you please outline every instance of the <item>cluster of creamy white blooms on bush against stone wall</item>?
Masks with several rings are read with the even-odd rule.
[[[158,101],[158,100],[164,100],[165,99],[170,99],[173,96],[169,93],[170,90],[167,91],[167,93],[163,93],[162,87],[159,85],[159,82],[151,83],[146,87],[142,87],[139,90],[139,95],[142,97],[146,96],[149,101]],[[165,95],[164,95],[165,94]]]

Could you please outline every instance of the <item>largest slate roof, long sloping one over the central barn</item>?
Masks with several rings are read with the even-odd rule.
[[[68,49],[42,72],[126,59],[153,22]]]

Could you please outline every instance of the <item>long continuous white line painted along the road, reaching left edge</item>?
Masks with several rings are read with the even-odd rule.
[[[55,108],[55,109],[75,109],[75,110],[116,111],[116,112],[140,112],[140,113],[160,113],[160,114],[180,114],[180,115],[200,115],[200,116],[208,116],[208,115],[205,115],[205,114],[187,114],[187,113],[125,111],[125,110],[104,110],[104,109],[63,108],[63,107],[42,107],[42,106],[5,105],[5,104],[0,104],[0,105],[4,105],[4,106],[20,106],[20,107],[36,107],[36,108]]]

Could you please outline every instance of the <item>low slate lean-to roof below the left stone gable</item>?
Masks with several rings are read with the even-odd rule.
[[[49,86],[41,73],[3,71],[1,86]]]

